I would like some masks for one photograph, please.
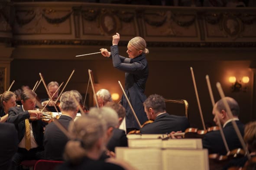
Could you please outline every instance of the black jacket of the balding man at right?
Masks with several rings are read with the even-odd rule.
[[[241,135],[244,134],[244,125],[240,121],[236,121],[237,126],[241,132]],[[228,148],[230,151],[236,148],[242,148],[242,145],[237,137],[237,133],[235,132],[232,122],[227,123],[227,125],[223,128],[224,136],[227,141]],[[225,148],[223,139],[221,138],[220,131],[212,131],[208,132],[204,135],[202,139],[203,148],[208,149],[209,154],[217,153],[217,154],[227,154],[227,150]]]

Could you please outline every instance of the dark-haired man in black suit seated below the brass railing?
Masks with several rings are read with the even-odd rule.
[[[166,113],[165,99],[158,94],[150,95],[143,105],[148,119],[154,122],[142,127],[140,129],[142,134],[165,134],[172,131],[185,131],[189,127],[185,116]]]

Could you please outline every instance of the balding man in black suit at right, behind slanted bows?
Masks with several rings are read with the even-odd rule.
[[[236,148],[242,148],[242,145],[237,137],[237,133],[235,132],[231,121],[235,120],[242,136],[244,133],[244,125],[238,119],[240,108],[237,101],[230,97],[225,97],[224,100],[227,101],[233,118],[227,114],[223,99],[220,99],[217,101],[213,108],[214,122],[218,124],[217,118],[219,118],[220,124],[223,126],[223,132],[227,141],[228,148],[230,151],[232,151]],[[227,154],[227,150],[224,146],[223,139],[221,138],[220,131],[208,132],[206,135],[204,135],[202,142],[203,147],[208,149],[209,154]]]

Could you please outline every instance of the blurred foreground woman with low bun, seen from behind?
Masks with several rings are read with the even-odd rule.
[[[100,113],[94,108],[91,112]],[[100,155],[106,146],[107,125],[104,119],[94,115],[84,115],[70,123],[69,132],[75,140],[68,141],[65,147],[65,163],[57,170],[132,170],[123,161],[112,158],[101,160]]]

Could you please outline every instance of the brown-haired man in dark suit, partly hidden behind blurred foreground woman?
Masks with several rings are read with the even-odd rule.
[[[111,107],[113,110],[117,112],[118,115],[118,125],[115,129],[113,129],[113,135],[107,143],[107,148],[109,151],[115,152],[115,147],[126,147],[128,146],[127,137],[125,131],[122,129],[118,129],[120,124],[123,122],[123,118],[125,116],[125,108],[121,104],[117,104],[113,101],[108,102],[104,105],[105,107]]]

